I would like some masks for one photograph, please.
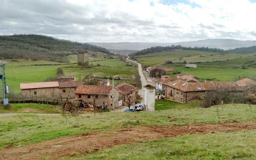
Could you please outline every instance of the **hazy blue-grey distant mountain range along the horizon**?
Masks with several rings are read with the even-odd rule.
[[[256,41],[240,41],[236,39],[204,39],[198,41],[178,43],[144,43],[144,42],[120,42],[120,43],[90,43],[107,49],[114,50],[142,50],[152,46],[182,45],[186,47],[209,47],[220,49],[235,49],[238,47],[250,47],[256,45]]]

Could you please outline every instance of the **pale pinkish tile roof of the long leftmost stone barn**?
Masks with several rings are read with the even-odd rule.
[[[33,89],[33,88],[49,88],[59,87],[58,81],[53,82],[35,82],[35,83],[21,83],[20,89]]]

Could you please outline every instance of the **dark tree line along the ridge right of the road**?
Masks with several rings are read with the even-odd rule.
[[[143,55],[153,52],[164,52],[164,51],[173,51],[174,49],[183,49],[183,50],[194,50],[194,51],[210,51],[210,52],[219,52],[219,53],[253,53],[256,52],[256,46],[251,47],[240,47],[235,49],[223,50],[220,48],[209,48],[209,47],[184,47],[181,45],[171,45],[171,46],[154,46],[147,49],[140,50],[135,52],[131,56]]]

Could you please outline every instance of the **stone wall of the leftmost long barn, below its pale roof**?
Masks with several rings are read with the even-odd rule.
[[[59,87],[21,89],[21,95],[26,98],[42,99],[44,97],[58,97]]]

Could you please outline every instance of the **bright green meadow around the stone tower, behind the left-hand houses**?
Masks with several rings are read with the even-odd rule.
[[[58,68],[63,69],[64,75],[76,76],[77,80],[83,79],[88,74],[101,77],[120,75],[131,78],[132,75],[137,73],[134,64],[132,64],[133,66],[126,66],[124,61],[108,59],[113,57],[112,55],[92,51],[89,54],[91,55],[89,64],[92,68],[82,68],[74,64],[77,61],[75,54],[67,56],[69,63],[47,60],[4,60],[7,62],[5,66],[7,86],[9,86],[10,92],[20,92],[20,83],[44,82],[49,77],[56,77]],[[100,66],[97,66],[97,64],[100,64]],[[130,83],[133,83],[133,81]]]

